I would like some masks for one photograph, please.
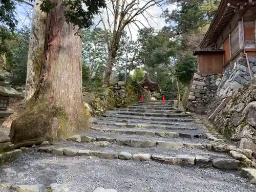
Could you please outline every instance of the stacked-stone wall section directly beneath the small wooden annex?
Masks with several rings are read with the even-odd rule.
[[[199,114],[207,113],[207,105],[214,98],[222,74],[197,74],[193,76],[186,102],[186,110]]]

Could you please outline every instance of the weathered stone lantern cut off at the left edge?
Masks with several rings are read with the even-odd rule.
[[[14,113],[13,110],[8,110],[9,99],[10,97],[20,97],[22,95],[15,89],[7,87],[4,81],[4,76],[0,74],[0,143],[10,141],[7,134],[2,132],[3,122]]]

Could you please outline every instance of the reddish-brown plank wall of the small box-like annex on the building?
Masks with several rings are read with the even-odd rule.
[[[201,53],[197,58],[198,73],[223,73],[223,53]]]

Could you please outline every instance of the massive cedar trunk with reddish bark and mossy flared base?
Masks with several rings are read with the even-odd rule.
[[[11,124],[12,143],[56,140],[88,127],[82,101],[81,39],[65,22],[62,1],[47,14],[47,27],[37,88],[25,111]]]

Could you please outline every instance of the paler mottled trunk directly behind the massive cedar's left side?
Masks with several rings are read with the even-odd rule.
[[[38,3],[38,5],[36,5]],[[32,27],[29,42],[25,99],[30,99],[37,86],[41,63],[44,55],[46,13],[40,10],[40,1],[33,7]]]

